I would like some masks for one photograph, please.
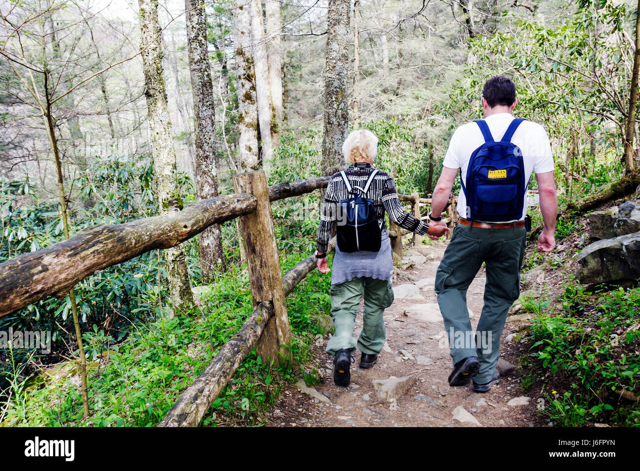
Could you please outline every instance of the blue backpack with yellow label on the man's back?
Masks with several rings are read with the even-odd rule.
[[[467,185],[462,190],[467,197],[467,219],[486,222],[517,220],[524,210],[524,161],[520,147],[511,143],[520,123],[514,119],[502,140],[495,142],[484,120],[476,120],[484,136],[484,144],[471,154],[467,168]]]

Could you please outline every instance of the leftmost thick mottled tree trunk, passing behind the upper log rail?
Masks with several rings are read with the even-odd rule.
[[[157,0],[139,0],[140,5],[140,49],[145,74],[145,96],[147,97],[148,125],[151,151],[156,174],[156,195],[160,213],[182,209],[182,197],[176,178],[176,156],[173,149],[171,122],[167,107],[163,79],[163,53],[160,26],[157,15]],[[193,293],[189,282],[189,271],[180,245],[164,251],[169,290],[175,308],[188,311],[193,306]]]

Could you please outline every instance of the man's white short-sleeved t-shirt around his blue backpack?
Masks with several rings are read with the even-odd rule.
[[[511,113],[496,113],[486,117],[484,120],[489,126],[493,140],[499,141],[513,119],[514,117]],[[513,134],[511,142],[520,147],[522,151],[525,181],[529,181],[532,173],[542,174],[552,172],[555,169],[547,131],[540,124],[532,121],[521,122]],[[465,188],[467,186],[467,167],[471,154],[483,144],[482,131],[480,131],[475,122],[463,124],[451,136],[451,142],[444,157],[443,165],[449,169],[462,169]],[[460,214],[460,217],[467,217],[467,198],[462,190],[460,190],[460,195],[458,196],[458,214]],[[526,214],[527,194],[525,193],[524,211],[522,211],[520,220],[524,220]]]

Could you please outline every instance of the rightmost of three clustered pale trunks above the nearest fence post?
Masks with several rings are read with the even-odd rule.
[[[265,0],[264,20],[267,29],[267,62],[269,65],[269,89],[273,105],[271,131],[274,134],[274,145],[278,142],[278,134],[282,126],[284,110],[282,106],[282,18],[280,17],[280,0]]]

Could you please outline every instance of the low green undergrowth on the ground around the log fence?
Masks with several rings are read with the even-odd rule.
[[[283,270],[304,254],[287,256]],[[285,383],[304,377],[317,384],[312,343],[321,334],[314,315],[328,313],[330,277],[314,270],[287,298],[294,361],[275,368],[250,352],[214,401],[203,426],[239,424],[260,426]],[[201,310],[173,319],[134,325],[124,341],[114,342],[95,329],[87,343],[90,422],[93,426],[155,426],[214,354],[235,335],[252,311],[246,270],[232,268],[205,293]],[[14,365],[19,368],[19,365]],[[21,379],[10,369],[10,387],[0,402],[1,426],[84,426],[77,367],[60,365],[55,371]]]

